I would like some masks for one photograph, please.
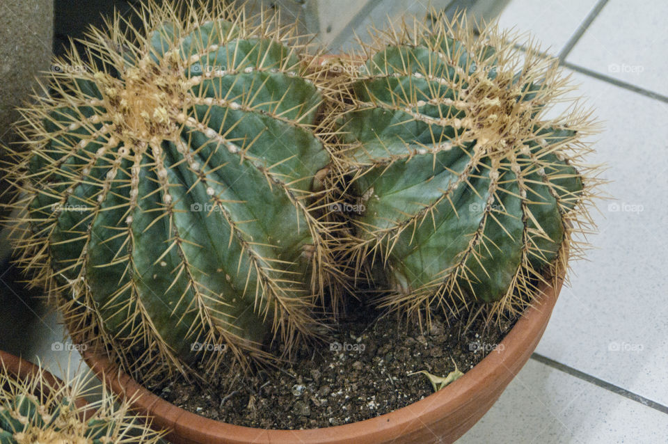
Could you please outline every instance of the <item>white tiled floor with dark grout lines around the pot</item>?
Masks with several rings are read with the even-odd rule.
[[[594,249],[573,264],[536,354],[460,444],[668,443],[665,17],[659,0],[511,0],[500,16],[559,56],[605,122],[591,161],[608,164],[614,200],[594,213]],[[0,285],[0,303],[17,297]],[[56,318],[26,301],[0,310],[1,346],[58,372],[69,354],[52,349]]]

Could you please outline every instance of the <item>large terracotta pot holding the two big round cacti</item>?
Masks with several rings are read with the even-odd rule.
[[[380,444],[451,443],[470,429],[496,402],[525,365],[548,324],[561,290],[543,285],[543,296],[528,309],[498,347],[449,386],[402,409],[347,425],[305,430],[241,427],[204,418],[153,395],[121,372],[106,356],[88,351],[86,363],[123,397],[139,396],[134,407],[152,415],[156,427],[171,429],[173,443],[206,444]]]

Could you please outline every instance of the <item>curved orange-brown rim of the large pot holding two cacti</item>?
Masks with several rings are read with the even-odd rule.
[[[482,361],[468,370],[461,378],[449,386],[438,390],[420,401],[400,409],[357,422],[317,429],[257,429],[232,425],[212,420],[204,416],[180,409],[161,397],[154,395],[141,386],[129,375],[122,372],[117,365],[103,355],[95,354],[88,349],[84,352],[84,360],[98,377],[105,375],[107,385],[123,397],[138,397],[133,402],[135,409],[141,413],[152,415],[154,424],[169,427],[175,435],[185,439],[213,442],[214,439],[225,439],[225,443],[356,443],[360,440],[392,439],[415,429],[428,427],[431,422],[443,416],[444,412],[452,411],[458,406],[475,402],[475,393],[480,386],[485,386],[486,379],[495,379],[493,374],[499,369],[507,370],[512,379],[519,368],[513,363],[523,359],[527,349],[536,347],[546,328],[552,308],[561,290],[564,276],[556,279],[555,285],[541,284],[543,293],[533,306],[525,310],[515,326],[500,342],[503,347],[488,354]],[[524,362],[528,356],[524,358]],[[521,368],[521,366],[520,366]],[[117,374],[117,377],[111,375]],[[498,379],[498,377],[497,377]],[[220,442],[220,441],[216,441]],[[375,441],[372,441],[375,442]]]

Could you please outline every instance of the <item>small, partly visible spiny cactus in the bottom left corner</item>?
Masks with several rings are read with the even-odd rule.
[[[152,431],[129,413],[129,402],[108,392],[86,404],[96,390],[95,376],[74,374],[67,383],[56,381],[40,367],[16,376],[0,366],[0,443],[2,444],[157,444],[162,433]]]

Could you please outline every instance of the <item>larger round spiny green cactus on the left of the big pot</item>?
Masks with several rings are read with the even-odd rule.
[[[325,68],[275,15],[193,3],[92,29],[23,110],[10,167],[19,263],[143,380],[287,353],[339,298]]]

